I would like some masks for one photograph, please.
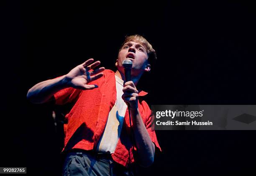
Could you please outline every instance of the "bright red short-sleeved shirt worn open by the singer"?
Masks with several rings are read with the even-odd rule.
[[[65,117],[67,124],[64,124],[65,138],[63,150],[73,148],[96,150],[97,143],[104,132],[108,114],[116,100],[115,72],[105,70],[103,73],[104,76],[100,79],[89,83],[96,84],[98,88],[80,90],[69,87],[54,94],[57,105],[74,102],[74,106]],[[152,142],[161,150],[156,139],[156,133],[151,128],[151,124],[153,124],[151,120],[154,116],[148,104],[141,100],[141,96],[146,94],[143,91],[138,93],[138,110]],[[114,161],[125,167],[128,166],[129,162],[128,150],[130,150],[131,162],[134,162],[129,134],[130,122],[127,109],[118,144],[115,152],[111,154]]]

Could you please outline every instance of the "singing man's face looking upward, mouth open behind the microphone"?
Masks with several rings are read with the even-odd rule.
[[[118,60],[116,66],[118,71],[124,74],[123,61],[130,59],[133,63],[131,74],[137,76],[142,74],[144,71],[150,70],[150,65],[147,62],[148,54],[146,47],[141,43],[129,41],[125,43],[118,54]]]

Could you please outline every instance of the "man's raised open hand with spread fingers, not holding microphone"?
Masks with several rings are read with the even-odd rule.
[[[88,59],[84,63],[76,66],[74,69],[66,74],[67,85],[69,87],[74,87],[75,89],[94,89],[97,85],[88,85],[89,82],[99,79],[103,76],[102,71],[105,70],[104,67],[100,67],[94,71],[90,71],[96,66],[100,65],[100,61],[94,62],[94,59]]]

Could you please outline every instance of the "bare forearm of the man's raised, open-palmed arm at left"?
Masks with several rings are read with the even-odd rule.
[[[48,102],[54,93],[67,88],[67,78],[64,76],[39,82],[28,90],[27,98],[32,103]]]

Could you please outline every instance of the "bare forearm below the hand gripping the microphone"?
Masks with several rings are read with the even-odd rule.
[[[148,135],[138,108],[135,110],[131,109],[131,116],[139,161],[141,166],[148,167],[154,162],[155,145]]]

